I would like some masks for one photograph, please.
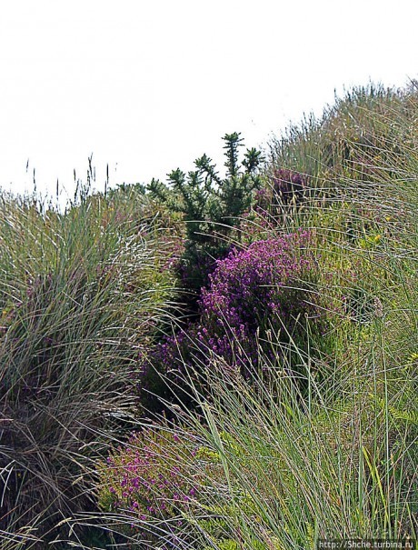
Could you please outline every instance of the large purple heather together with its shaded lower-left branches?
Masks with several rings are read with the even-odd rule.
[[[144,362],[138,387],[145,407],[153,409],[157,403],[150,406],[150,393],[170,398],[158,373],[189,405],[182,392],[184,365],[209,365],[211,355],[217,355],[248,376],[259,366],[260,347],[274,361],[269,339],[286,344],[290,334],[304,348],[304,316],[313,318],[317,328],[322,324],[303,283],[315,274],[314,257],[306,251],[309,238],[299,232],[257,241],[217,260],[208,287],[201,291],[199,321],[179,335],[166,336]]]

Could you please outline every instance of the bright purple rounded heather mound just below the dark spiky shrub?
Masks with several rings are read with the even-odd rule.
[[[209,288],[202,290],[200,341],[244,370],[257,365],[257,332],[263,339],[269,329],[281,331],[286,341],[287,331],[301,344],[298,316],[314,314],[302,283],[314,269],[314,258],[300,254],[308,240],[300,232],[257,241],[218,261]],[[233,357],[231,342],[241,343],[244,355]]]

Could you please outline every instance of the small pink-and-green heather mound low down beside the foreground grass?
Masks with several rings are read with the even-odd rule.
[[[99,504],[104,511],[129,515],[131,528],[142,537],[161,522],[174,534],[182,527],[182,513],[197,505],[207,459],[216,462],[193,435],[146,427],[100,465]]]

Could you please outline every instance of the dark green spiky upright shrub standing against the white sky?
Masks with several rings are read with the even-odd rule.
[[[244,146],[240,134],[224,135],[225,177],[216,171],[209,156],[194,161],[195,170],[187,175],[177,168],[168,175],[168,185],[154,180],[148,190],[174,212],[183,214],[186,227],[183,278],[190,289],[199,290],[206,282],[216,258],[228,250],[228,235],[239,225],[247,211],[253,191],[261,185],[258,168],[261,152],[247,149],[242,164],[239,149]]]

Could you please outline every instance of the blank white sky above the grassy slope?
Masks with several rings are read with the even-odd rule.
[[[418,76],[417,0],[2,0],[0,186],[161,179]],[[29,169],[26,172],[26,163]]]

